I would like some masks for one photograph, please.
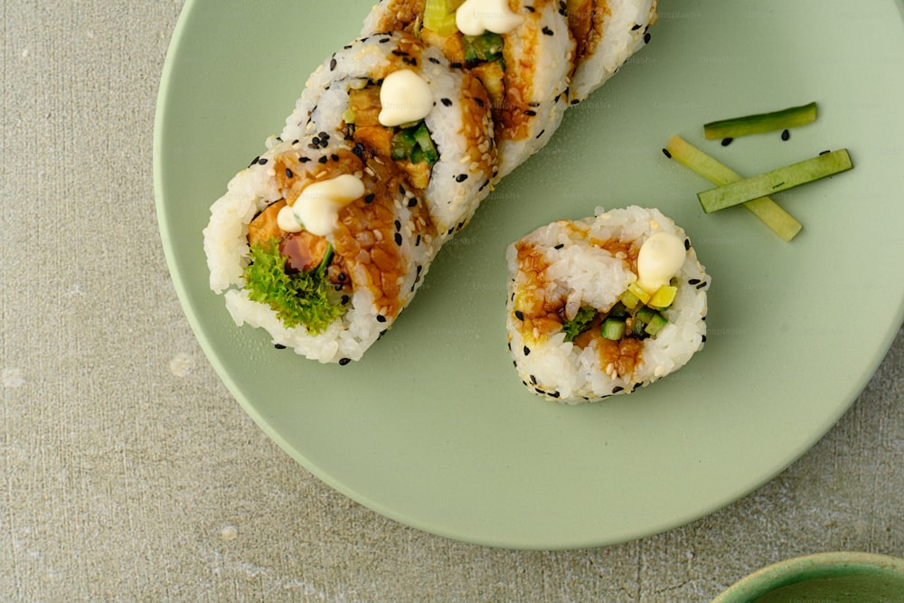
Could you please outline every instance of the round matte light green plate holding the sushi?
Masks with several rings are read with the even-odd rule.
[[[662,532],[767,482],[833,426],[904,317],[904,23],[876,0],[663,2],[652,41],[570,108],[442,250],[360,363],[321,365],[231,323],[207,287],[211,203],[278,134],[371,0],[189,0],[155,125],[163,245],[185,313],[241,406],[289,455],[401,523],[563,549]],[[819,103],[814,124],[722,147],[702,124]],[[785,243],[667,160],[673,134],[744,175],[846,147],[851,172],[777,195]],[[527,391],[504,329],[508,243],[594,207],[657,206],[712,277],[708,343],[653,387],[583,407]]]

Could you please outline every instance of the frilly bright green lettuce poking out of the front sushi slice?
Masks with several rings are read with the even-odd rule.
[[[270,306],[283,325],[304,325],[309,333],[319,334],[344,307],[330,301],[332,288],[326,267],[332,259],[332,247],[320,265],[306,272],[289,272],[286,258],[279,253],[278,239],[256,242],[250,248],[250,265],[245,269],[245,289],[251,300]]]

